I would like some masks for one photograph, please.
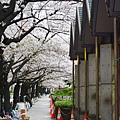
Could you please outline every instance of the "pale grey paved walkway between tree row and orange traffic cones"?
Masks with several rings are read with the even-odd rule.
[[[51,120],[49,109],[49,96],[42,96],[33,103],[32,108],[27,111],[27,116],[30,117],[30,120]]]

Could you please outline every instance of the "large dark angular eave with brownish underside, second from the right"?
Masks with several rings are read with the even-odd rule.
[[[94,36],[109,36],[113,33],[113,18],[108,16],[105,0],[92,0],[90,24]]]

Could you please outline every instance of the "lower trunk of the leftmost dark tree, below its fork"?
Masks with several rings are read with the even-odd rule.
[[[6,82],[4,85],[4,110],[5,112],[9,112],[11,109],[11,104],[10,104],[10,92],[9,92],[9,85]]]

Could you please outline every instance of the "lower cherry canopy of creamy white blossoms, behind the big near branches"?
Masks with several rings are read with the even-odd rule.
[[[7,60],[5,64],[7,75],[6,79],[4,79],[4,83],[7,83],[5,84],[7,86],[4,86],[6,90],[4,91],[6,92],[5,99],[9,99],[7,92],[9,87],[15,83],[17,86],[22,83],[30,88],[33,84],[37,85],[38,82],[54,80],[54,84],[58,85],[58,82],[64,80],[63,78],[70,79],[71,71],[68,68],[70,63],[66,51],[62,50],[60,46],[58,47],[60,43],[57,43],[58,45],[49,42],[43,45],[37,43],[38,41],[35,42],[33,39],[29,40],[29,43],[23,40],[19,43],[19,46],[15,44],[12,45],[14,47],[9,46],[6,48],[4,52]],[[19,92],[19,90],[15,90],[15,94],[16,92]],[[25,93],[22,97],[24,95]],[[18,95],[15,96],[15,103],[18,97]]]

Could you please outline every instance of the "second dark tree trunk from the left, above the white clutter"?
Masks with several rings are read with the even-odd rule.
[[[20,85],[17,83],[14,87],[14,95],[13,95],[13,109],[15,109],[17,102],[19,101],[19,90],[20,90]]]

